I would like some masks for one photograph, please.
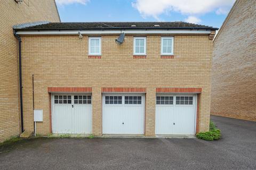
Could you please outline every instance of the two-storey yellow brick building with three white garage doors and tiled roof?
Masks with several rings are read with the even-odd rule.
[[[22,40],[25,130],[34,131],[34,105],[43,115],[39,134],[208,131],[215,30],[185,22],[15,28]]]

